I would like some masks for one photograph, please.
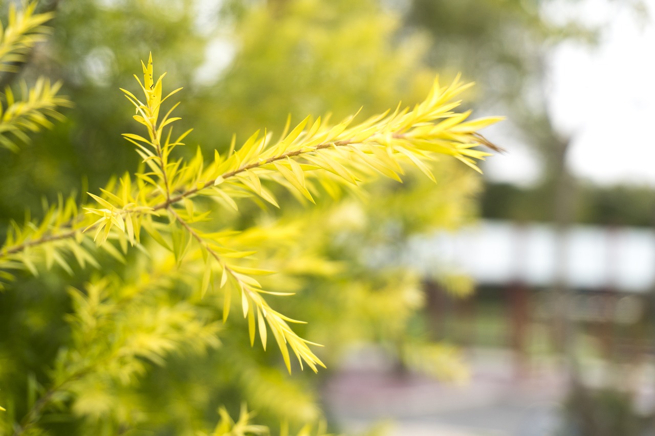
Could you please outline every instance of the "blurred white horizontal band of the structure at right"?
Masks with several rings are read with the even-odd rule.
[[[559,259],[557,244],[553,225],[481,221],[455,232],[413,238],[403,263],[426,276],[460,271],[480,285],[549,287],[560,267],[567,285],[575,289],[645,293],[655,285],[654,230],[574,225],[563,234],[564,259]]]

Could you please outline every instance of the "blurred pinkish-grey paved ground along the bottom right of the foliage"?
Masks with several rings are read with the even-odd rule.
[[[472,378],[455,386],[416,374],[395,374],[384,359],[360,356],[324,390],[327,409],[346,431],[393,420],[392,436],[550,436],[565,379],[554,362],[517,376],[512,354],[476,350]]]

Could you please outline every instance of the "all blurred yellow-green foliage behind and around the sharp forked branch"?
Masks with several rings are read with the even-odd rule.
[[[56,203],[59,192],[99,193],[95,187],[107,180],[111,187],[113,175],[138,169],[133,147],[121,138],[135,124],[118,88],[133,82],[135,60],[149,50],[156,70],[168,71],[169,89],[186,87],[176,95],[183,122],[196,128],[186,142],[200,144],[206,156],[213,149],[224,153],[234,132],[237,143],[259,128],[279,132],[288,114],[293,126],[307,113],[331,111],[338,122],[361,105],[362,120],[401,98],[413,105],[434,77],[424,62],[429,39],[400,31],[398,18],[373,1],[235,2],[212,10],[201,3],[83,0],[42,8],[56,10],[53,34],[30,52],[20,76],[61,80],[61,93],[75,108],[20,145],[20,153],[0,149],[5,227],[10,219],[22,223],[26,208],[40,217],[42,198]],[[199,23],[198,16],[220,25]],[[213,81],[196,81],[216,39],[233,41],[234,60]],[[3,81],[13,85],[16,75]],[[181,153],[191,158],[194,147],[188,148]],[[409,367],[464,376],[450,348],[413,331],[422,306],[417,274],[381,270],[367,259],[379,244],[400,247],[415,232],[472,219],[476,175],[454,159],[443,158],[435,168],[436,185],[408,172],[403,185],[341,188],[316,208],[272,188],[285,205],[280,211],[243,202],[238,214],[220,209],[221,227],[244,230],[233,243],[255,244],[265,266],[282,272],[273,289],[297,293],[275,299],[275,307],[310,321],[297,333],[326,346],[320,358],[328,367],[352,344],[375,341]],[[121,261],[107,244],[104,251],[87,245],[94,259],[86,259],[87,268],[71,262],[69,272],[60,266],[38,277],[19,272],[0,295],[4,433],[194,434],[219,419],[221,405],[238,416],[243,401],[273,431],[280,420],[298,429],[322,416],[316,386],[326,372],[288,376],[279,352],[250,348],[238,314],[225,324],[212,321],[222,299],[198,300],[195,280],[202,271],[179,268],[155,245],[145,246],[149,258],[132,250]],[[436,278],[454,292],[470,291],[447,272]],[[58,390],[70,374],[75,380]],[[226,416],[221,422],[212,434],[231,429]]]

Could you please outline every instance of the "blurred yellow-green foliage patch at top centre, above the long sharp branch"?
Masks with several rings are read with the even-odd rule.
[[[215,101],[212,122],[226,135],[283,124],[288,113],[341,119],[362,107],[367,117],[401,96],[413,105],[434,78],[421,62],[426,39],[400,35],[398,16],[373,0],[261,4],[235,21],[225,37],[233,62],[192,102]]]

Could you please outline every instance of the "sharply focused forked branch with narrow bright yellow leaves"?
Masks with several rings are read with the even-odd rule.
[[[134,118],[145,126],[147,137],[136,134],[125,137],[137,146],[150,171],[138,173],[136,187],[129,177],[122,177],[113,192],[103,189],[100,196],[91,194],[97,204],[94,208],[84,208],[84,218],[73,217],[71,206],[53,209],[52,227],[42,223],[36,232],[14,227],[7,236],[10,244],[3,246],[0,261],[12,266],[12,262],[20,263],[25,259],[26,248],[45,245],[46,253],[54,262],[66,264],[62,250],[72,251],[73,248],[64,246],[65,241],[75,237],[81,242],[84,232],[89,230],[94,232],[96,243],[105,249],[109,247],[105,243],[111,236],[125,251],[128,242],[130,245],[140,243],[143,228],[160,245],[173,251],[178,261],[189,251],[199,251],[205,263],[201,293],[204,294],[210,285],[217,285],[219,289],[225,287],[223,318],[227,319],[231,297],[236,292],[242,313],[249,320],[251,343],[259,332],[266,346],[268,325],[289,370],[288,346],[301,366],[306,363],[316,371],[316,365],[322,362],[310,350],[308,344],[311,342],[295,335],[290,328],[288,323],[298,321],[276,312],[265,299],[267,294],[279,293],[263,289],[255,276],[272,272],[236,260],[247,259],[255,253],[238,251],[225,244],[229,232],[206,232],[198,226],[210,219],[212,211],[199,207],[197,199],[208,198],[238,209],[234,198],[248,194],[278,206],[265,187],[266,183],[278,183],[314,202],[314,195],[318,194],[318,187],[313,183],[316,178],[328,192],[343,184],[358,185],[375,173],[401,181],[403,162],[416,166],[434,180],[426,162],[433,160],[436,154],[453,156],[477,170],[474,159],[489,153],[474,149],[485,143],[476,132],[498,119],[466,121],[469,113],[453,112],[458,102],[452,100],[468,85],[455,81],[441,86],[435,81],[426,100],[411,111],[399,106],[394,112],[387,111],[359,124],[351,125],[354,117],[349,117],[327,127],[322,126],[320,118],[309,123],[308,117],[294,128],[286,128],[278,141],[272,142],[269,134],[259,136],[257,132],[238,149],[233,141],[227,155],[221,156],[216,151],[214,160],[208,164],[204,164],[200,153],[186,163],[181,159],[172,160],[171,153],[175,147],[183,145],[181,141],[189,130],[174,140],[171,139],[172,127],[164,132],[168,124],[179,119],[171,116],[175,105],[159,119],[161,103],[178,90],[162,97],[164,76],[154,81],[151,59],[142,67],[143,101],[132,92],[124,92],[136,107]],[[168,225],[159,220],[162,215],[168,218]],[[89,216],[96,219],[90,221]],[[67,223],[70,220],[74,221],[73,225]]]

